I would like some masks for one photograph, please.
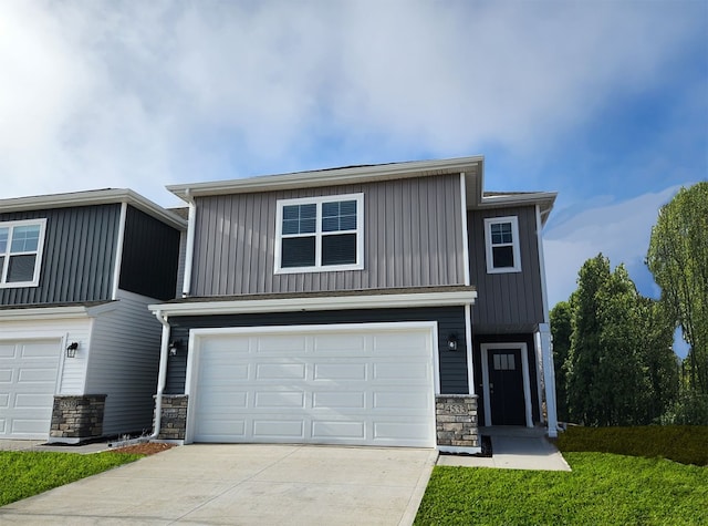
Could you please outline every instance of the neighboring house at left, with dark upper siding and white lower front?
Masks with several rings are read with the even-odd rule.
[[[127,189],[0,200],[0,439],[152,429],[186,221]]]

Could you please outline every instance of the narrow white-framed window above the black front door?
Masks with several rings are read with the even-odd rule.
[[[520,272],[519,220],[512,217],[485,219],[487,271]]]

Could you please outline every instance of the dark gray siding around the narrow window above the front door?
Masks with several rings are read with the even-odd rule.
[[[485,219],[519,218],[520,272],[488,274],[485,252]],[[472,327],[494,330],[499,326],[533,326],[543,322],[543,297],[533,206],[468,212],[470,278],[477,288]]]

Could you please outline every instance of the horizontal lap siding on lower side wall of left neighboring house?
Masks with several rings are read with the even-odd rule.
[[[118,290],[117,307],[94,320],[86,394],[107,394],[103,433],[149,431],[162,324],[147,309],[155,302]]]

